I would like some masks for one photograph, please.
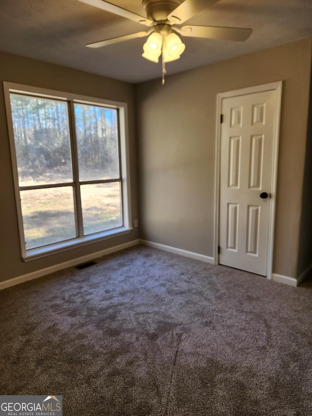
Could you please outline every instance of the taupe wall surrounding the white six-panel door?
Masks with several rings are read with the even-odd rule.
[[[311,45],[137,85],[141,238],[213,257],[216,95],[283,80],[273,272],[297,276]]]

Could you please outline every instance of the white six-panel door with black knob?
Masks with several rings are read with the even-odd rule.
[[[273,90],[222,99],[219,263],[263,276],[275,111]]]

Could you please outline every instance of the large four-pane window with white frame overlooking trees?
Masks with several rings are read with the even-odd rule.
[[[22,257],[129,232],[126,104],[4,89]]]

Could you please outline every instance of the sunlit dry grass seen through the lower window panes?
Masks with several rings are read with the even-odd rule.
[[[23,186],[55,180],[55,176],[25,178]],[[81,185],[80,193],[84,235],[122,226],[119,182]],[[26,250],[77,237],[72,186],[23,190],[20,197]]]

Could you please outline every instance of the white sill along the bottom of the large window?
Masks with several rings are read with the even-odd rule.
[[[106,240],[108,238],[122,236],[123,234],[131,233],[133,228],[120,227],[115,230],[105,231],[103,233],[93,234],[92,236],[85,236],[81,238],[75,238],[73,240],[64,241],[61,243],[51,244],[48,246],[34,248],[27,250],[25,256],[22,257],[23,261],[36,260],[50,256],[52,254],[61,253],[65,250],[81,247],[86,244],[95,243],[98,241]]]

